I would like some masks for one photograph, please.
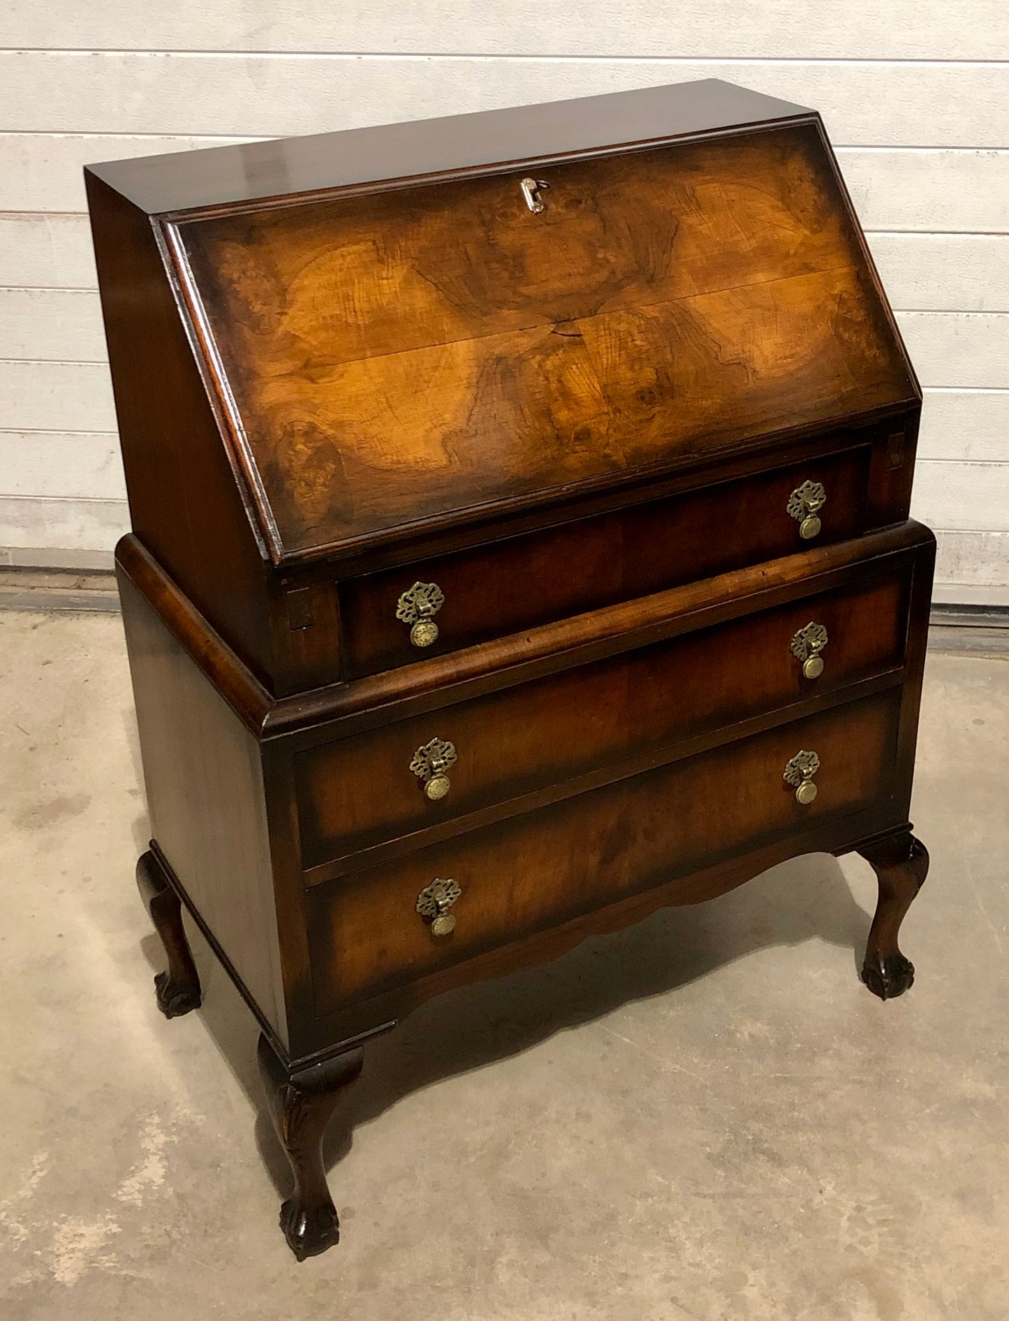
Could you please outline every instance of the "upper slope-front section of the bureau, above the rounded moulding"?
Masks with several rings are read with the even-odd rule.
[[[268,691],[412,659],[391,564],[474,552],[450,649],[502,631],[481,575],[551,565],[508,631],[795,548],[733,468],[808,464],[824,538],[907,517],[921,391],[815,112],[703,82],[435,123],[86,172],[133,530]]]

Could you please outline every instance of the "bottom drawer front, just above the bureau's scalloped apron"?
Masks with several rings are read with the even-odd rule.
[[[316,1005],[328,1013],[891,797],[899,692],[795,721],[309,890]],[[783,778],[819,757],[811,803]],[[461,894],[437,938],[436,878]]]

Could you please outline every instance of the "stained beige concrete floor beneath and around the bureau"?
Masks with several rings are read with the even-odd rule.
[[[0,671],[5,1321],[1009,1316],[1005,659],[928,663],[910,995],[818,855],[445,996],[370,1050],[304,1266],[205,947],[205,1011],[155,1008],[120,621],[0,616]]]

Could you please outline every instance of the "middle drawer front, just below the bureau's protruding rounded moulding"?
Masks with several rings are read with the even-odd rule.
[[[301,752],[302,863],[325,865],[893,668],[903,653],[909,587],[905,561],[869,583]],[[812,653],[792,650],[810,624],[828,638],[819,674],[815,663],[803,674]]]

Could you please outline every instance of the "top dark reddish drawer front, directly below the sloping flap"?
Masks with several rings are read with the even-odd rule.
[[[870,446],[615,514],[510,538],[339,584],[343,674],[359,678],[572,614],[713,577],[814,544],[788,514],[792,491],[820,483],[815,544],[864,531]],[[807,528],[808,531],[808,528]],[[444,597],[433,643],[411,641],[415,583]],[[437,596],[435,597],[437,602]],[[404,621],[399,616],[407,616]]]

